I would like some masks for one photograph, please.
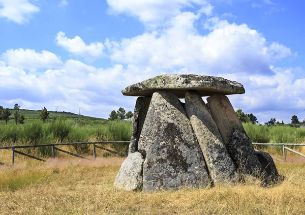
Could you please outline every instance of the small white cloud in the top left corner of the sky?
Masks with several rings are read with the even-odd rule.
[[[4,17],[18,24],[28,22],[32,14],[39,11],[39,7],[29,0],[0,0],[0,18]]]

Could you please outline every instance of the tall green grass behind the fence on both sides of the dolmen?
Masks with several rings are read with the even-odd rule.
[[[251,123],[243,124],[252,142],[260,143],[305,143],[305,129],[289,126],[258,126]],[[23,125],[0,124],[0,146],[5,145],[36,145],[60,142],[89,141],[129,141],[131,137],[131,121],[108,121],[96,124],[90,121],[58,117],[45,124],[35,119]],[[112,148],[125,153],[128,144],[109,144]],[[72,146],[79,153],[87,153],[90,145]],[[279,150],[281,147],[278,148]],[[32,150],[31,148],[25,149]],[[52,155],[51,147],[36,149],[42,156]]]

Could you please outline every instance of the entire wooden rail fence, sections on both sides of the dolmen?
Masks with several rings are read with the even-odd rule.
[[[15,153],[18,153],[19,155],[26,156],[28,158],[32,158],[32,159],[36,159],[36,160],[39,160],[39,161],[46,162],[46,160],[44,160],[44,159],[35,157],[33,155],[29,155],[28,153],[24,153],[24,152],[18,151],[16,149],[18,149],[18,148],[37,148],[37,147],[47,147],[47,146],[52,146],[52,158],[53,159],[55,158],[55,151],[57,150],[57,151],[67,153],[69,155],[72,155],[72,156],[75,156],[75,157],[78,157],[78,158],[95,160],[96,159],[96,148],[106,150],[108,152],[114,153],[114,154],[122,156],[122,157],[128,155],[128,152],[126,152],[123,155],[123,154],[119,153],[118,151],[114,151],[114,150],[102,147],[98,144],[109,144],[109,143],[111,143],[111,144],[117,144],[117,143],[129,144],[129,142],[130,141],[106,141],[106,142],[53,143],[53,144],[41,144],[41,145],[15,145],[15,146],[2,146],[2,147],[0,147],[0,150],[1,149],[12,149],[11,165],[14,165],[14,163],[15,163]],[[60,146],[60,145],[86,145],[86,144],[93,144],[93,159],[92,158],[87,158],[87,157],[84,157],[84,156],[81,156],[81,155],[77,155],[76,153],[73,153],[71,151],[66,151],[64,149],[56,147],[56,146]],[[291,148],[286,147],[286,146],[305,146],[305,143],[252,143],[252,144],[253,145],[281,145],[283,147],[283,160],[271,156],[273,160],[277,160],[277,161],[280,161],[280,162],[285,162],[285,160],[286,160],[286,150],[289,150],[289,151],[291,151],[293,153],[296,153],[297,155],[305,158],[305,155],[303,155],[302,153],[300,153],[296,150],[293,150]],[[255,149],[255,150],[259,151],[257,149]],[[7,165],[7,164],[0,162],[0,165]]]

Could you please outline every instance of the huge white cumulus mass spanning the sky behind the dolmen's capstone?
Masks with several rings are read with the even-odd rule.
[[[108,0],[109,5],[116,3],[120,0]],[[138,11],[154,11],[157,7],[156,1],[151,1],[153,6],[148,5],[147,9],[141,7],[147,6],[149,1],[129,3],[138,4]],[[304,109],[305,79],[300,75],[303,71],[272,66],[281,59],[297,56],[289,47],[267,41],[245,23],[230,23],[220,17],[206,18],[204,10],[181,12],[182,8],[203,4],[199,0],[175,2],[177,12],[161,13],[163,17],[160,20],[145,19],[140,12],[129,9],[124,2],[122,4],[115,5],[121,8],[116,12],[136,16],[146,24],[166,20],[166,25],[146,29],[136,37],[106,39],[104,44],[89,45],[78,36],[69,39],[65,33],[59,32],[57,45],[85,58],[107,53],[114,66],[96,68],[70,59],[58,68],[34,75],[20,70],[24,66],[12,66],[4,60],[8,65],[0,63],[0,90],[9,86],[14,89],[16,85],[16,88],[23,89],[24,95],[20,96],[20,90],[19,93],[4,93],[0,95],[0,102],[14,105],[21,98],[28,108],[40,104],[49,107],[60,105],[65,111],[72,112],[77,107],[77,112],[80,107],[88,115],[107,117],[118,107],[133,110],[135,99],[120,93],[125,86],[163,73],[192,73],[221,76],[242,83],[246,94],[229,98],[236,109],[253,113],[260,121],[275,117],[289,122],[291,115]],[[159,1],[158,4],[166,5],[167,2]],[[197,25],[201,19],[202,25]],[[201,34],[198,27],[204,27],[207,33]]]

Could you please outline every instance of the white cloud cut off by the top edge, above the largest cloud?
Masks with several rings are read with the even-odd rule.
[[[146,26],[156,27],[181,13],[181,9],[199,6],[201,12],[211,15],[213,7],[206,0],[107,0],[112,14],[127,14],[139,18]]]

